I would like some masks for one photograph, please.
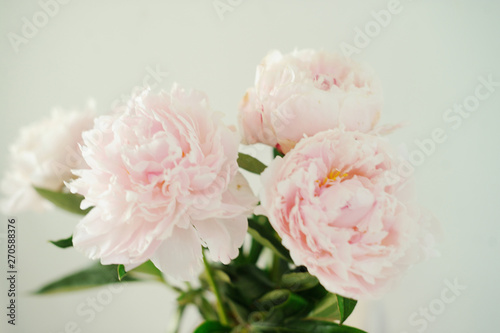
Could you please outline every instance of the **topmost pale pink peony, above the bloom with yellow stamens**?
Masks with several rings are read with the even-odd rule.
[[[323,51],[274,51],[257,67],[255,87],[241,101],[243,143],[286,153],[304,134],[339,126],[369,132],[381,107],[379,82],[352,60]]]

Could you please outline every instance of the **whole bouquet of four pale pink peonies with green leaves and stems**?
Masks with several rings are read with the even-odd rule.
[[[178,293],[172,332],[188,305],[204,318],[195,332],[362,332],[343,325],[357,300],[435,252],[432,218],[381,136],[393,127],[376,126],[381,109],[368,68],[274,51],[240,103],[241,135],[177,85],[23,129],[2,208],[83,216],[52,243],[98,262],[38,293],[156,280]],[[273,161],[240,142],[270,146]]]

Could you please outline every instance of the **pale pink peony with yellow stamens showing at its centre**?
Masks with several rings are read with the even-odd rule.
[[[429,222],[396,165],[379,137],[335,129],[301,140],[262,174],[262,208],[294,262],[327,290],[377,297],[430,251]]]

